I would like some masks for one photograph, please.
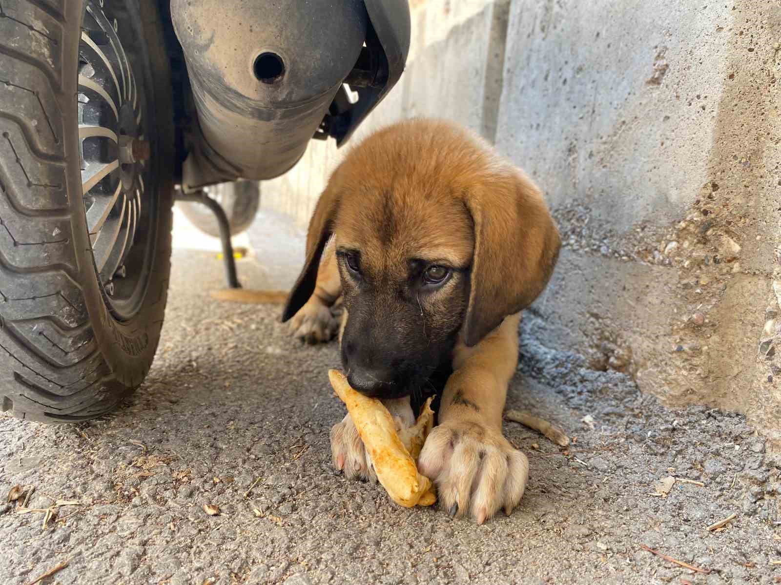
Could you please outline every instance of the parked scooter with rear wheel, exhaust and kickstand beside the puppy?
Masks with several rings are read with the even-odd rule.
[[[230,236],[253,186],[309,140],[348,142],[401,76],[409,7],[5,0],[0,16],[0,410],[88,420],[152,365],[173,201],[213,214],[239,286]]]

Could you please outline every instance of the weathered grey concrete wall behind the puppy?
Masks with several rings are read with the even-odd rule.
[[[362,133],[444,115],[537,179],[565,241],[543,341],[781,441],[779,2],[429,0],[412,23]],[[263,204],[305,225],[340,155],[312,143]]]

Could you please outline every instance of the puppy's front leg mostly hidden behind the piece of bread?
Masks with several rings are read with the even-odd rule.
[[[391,413],[396,430],[412,427],[415,424],[415,415],[409,403],[409,396],[405,398],[383,400],[383,405]],[[376,481],[372,458],[363,446],[358,429],[355,428],[348,414],[341,423],[331,427],[331,456],[333,466],[337,470],[344,471],[344,477],[348,479]]]

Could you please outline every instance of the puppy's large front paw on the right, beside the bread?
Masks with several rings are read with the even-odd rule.
[[[418,469],[437,484],[439,500],[451,516],[469,512],[479,524],[502,507],[512,512],[529,477],[528,459],[500,431],[471,422],[435,427]]]

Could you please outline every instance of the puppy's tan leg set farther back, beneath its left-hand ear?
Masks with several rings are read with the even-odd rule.
[[[333,316],[331,307],[341,296],[341,281],[337,267],[336,246],[329,243],[323,252],[323,261],[317,271],[315,291],[290,321],[290,332],[294,337],[308,343],[330,341],[339,329],[339,321]]]

